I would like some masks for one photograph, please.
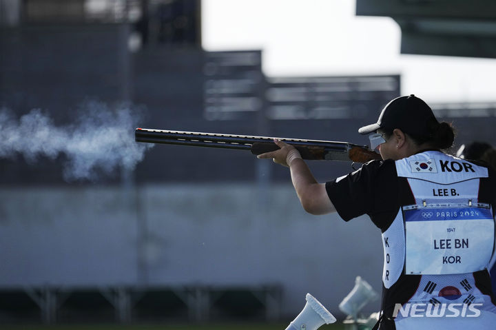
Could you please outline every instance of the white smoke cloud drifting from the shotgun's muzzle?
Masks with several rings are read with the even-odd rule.
[[[34,165],[39,156],[55,159],[65,154],[66,181],[95,181],[102,172],[133,170],[153,146],[134,141],[139,116],[130,105],[110,108],[90,101],[78,113],[74,123],[57,127],[42,110],[31,110],[17,119],[10,110],[1,108],[0,158],[22,154]]]

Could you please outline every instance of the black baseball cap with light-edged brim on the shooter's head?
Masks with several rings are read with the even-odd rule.
[[[369,134],[380,128],[394,130],[399,128],[413,136],[429,136],[428,123],[435,118],[431,107],[417,96],[400,96],[389,102],[379,116],[378,122],[361,127],[360,134]]]

